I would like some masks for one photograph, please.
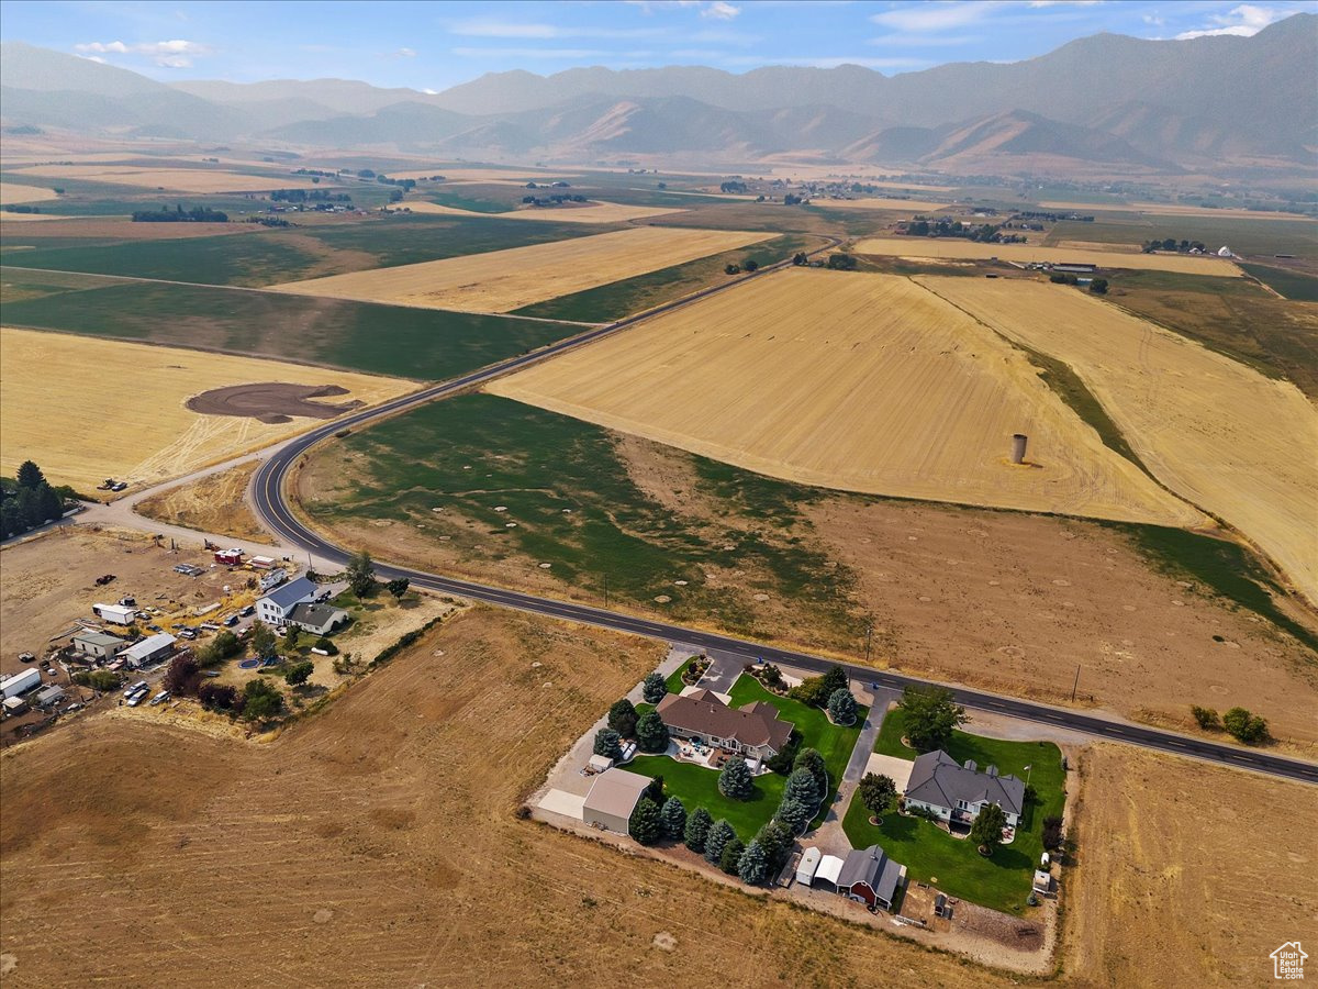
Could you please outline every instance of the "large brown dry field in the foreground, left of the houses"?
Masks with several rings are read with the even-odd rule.
[[[478,609],[268,745],[100,717],[11,750],[5,984],[1006,984],[517,820],[660,654]]]

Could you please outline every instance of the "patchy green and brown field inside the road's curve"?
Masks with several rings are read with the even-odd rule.
[[[801,505],[828,492],[672,451],[692,472],[701,505],[673,510],[637,485],[616,442],[565,415],[461,396],[344,439],[351,483],[333,501],[306,508],[331,526],[424,522],[427,538],[449,537],[448,550],[496,574],[509,558],[530,558],[601,600],[608,580],[612,601],[655,609],[663,595],[671,600],[662,611],[673,618],[776,638],[782,629],[760,625],[751,601],[766,591],[791,600],[793,618],[809,622],[820,641],[857,641],[853,578],[824,566],[828,556],[800,516]],[[432,513],[436,505],[445,513]],[[497,505],[507,512],[496,513]],[[518,526],[506,527],[509,521]],[[710,582],[706,567],[741,574]]]

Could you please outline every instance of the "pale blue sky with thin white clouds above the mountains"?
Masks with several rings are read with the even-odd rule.
[[[575,66],[1015,62],[1074,38],[1249,37],[1318,0],[0,0],[0,38],[178,79],[362,79],[440,91]]]

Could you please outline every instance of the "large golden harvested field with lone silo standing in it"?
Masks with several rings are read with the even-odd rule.
[[[1104,447],[1023,353],[905,278],[784,270],[488,390],[804,484],[1206,521]],[[1028,465],[1010,463],[1014,433],[1031,436]]]

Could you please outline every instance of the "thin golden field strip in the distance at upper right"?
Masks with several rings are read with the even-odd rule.
[[[884,257],[966,258],[974,261],[1017,261],[1020,264],[1091,264],[1099,268],[1131,268],[1141,272],[1174,272],[1177,274],[1211,274],[1239,278],[1240,269],[1224,257],[1191,257],[1188,255],[1135,255],[1120,249],[1079,251],[1045,248],[1032,244],[977,244],[956,237],[866,237],[855,244],[858,255]]]

